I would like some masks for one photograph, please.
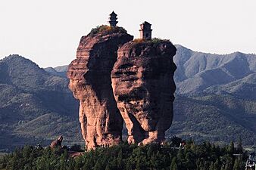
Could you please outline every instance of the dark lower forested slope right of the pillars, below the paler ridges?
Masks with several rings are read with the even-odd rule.
[[[167,135],[227,144],[239,141],[256,144],[256,100],[245,100],[229,94],[201,97],[177,96],[174,101],[173,125]]]

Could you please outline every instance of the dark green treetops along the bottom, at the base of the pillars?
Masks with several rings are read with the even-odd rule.
[[[185,147],[166,144],[145,146],[126,143],[85,152],[83,156],[72,158],[64,148],[26,146],[3,156],[1,169],[92,169],[92,170],[240,170],[245,169],[248,158],[242,144],[230,143],[218,146],[209,142],[195,144],[187,141]]]

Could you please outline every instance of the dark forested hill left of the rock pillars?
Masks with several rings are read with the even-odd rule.
[[[81,140],[78,103],[67,84],[19,55],[0,60],[0,150],[60,134]]]

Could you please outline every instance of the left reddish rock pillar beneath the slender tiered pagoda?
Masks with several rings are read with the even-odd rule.
[[[119,27],[94,29],[81,38],[76,60],[69,65],[69,88],[80,100],[80,124],[87,150],[121,141],[123,119],[114,100],[111,70],[119,46],[132,39]]]

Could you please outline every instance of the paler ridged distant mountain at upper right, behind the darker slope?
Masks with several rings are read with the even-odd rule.
[[[219,55],[195,52],[176,45],[174,57],[177,70],[175,81],[177,94],[237,94],[254,98],[256,55]]]

